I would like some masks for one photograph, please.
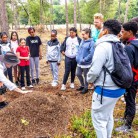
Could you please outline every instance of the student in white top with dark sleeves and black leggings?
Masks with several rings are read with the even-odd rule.
[[[74,89],[75,72],[77,67],[76,54],[77,46],[80,44],[81,39],[77,35],[75,27],[70,28],[70,36],[66,37],[61,45],[61,53],[65,56],[65,73],[63,77],[63,84],[61,90],[66,90],[66,83],[71,73],[70,88]]]

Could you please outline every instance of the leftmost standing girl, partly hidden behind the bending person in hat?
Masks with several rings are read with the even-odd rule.
[[[8,41],[8,35],[6,32],[1,33],[1,41],[0,41],[0,55],[5,55],[7,52],[11,51],[11,43]],[[5,72],[5,76],[9,77],[9,80],[13,82],[12,77],[12,67],[8,68]]]

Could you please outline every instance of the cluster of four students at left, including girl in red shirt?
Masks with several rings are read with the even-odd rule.
[[[26,72],[27,86],[32,88],[35,83],[39,83],[39,59],[41,54],[41,40],[35,36],[35,29],[30,27],[28,29],[30,36],[25,38],[18,38],[16,31],[11,33],[10,40],[6,32],[1,33],[0,40],[0,55],[5,55],[7,52],[13,52],[20,59],[20,63],[14,67],[7,68],[5,75],[13,82],[12,69],[14,69],[14,79],[17,86],[21,86],[25,90],[24,73]],[[28,47],[29,46],[29,47]],[[36,69],[36,79],[34,78],[34,70]],[[30,72],[31,80],[30,81]]]

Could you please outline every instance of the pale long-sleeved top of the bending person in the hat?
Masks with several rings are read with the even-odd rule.
[[[0,62],[0,82],[2,82],[10,91],[12,91],[17,88],[17,86],[6,78],[4,71],[6,71],[6,67],[4,63]]]

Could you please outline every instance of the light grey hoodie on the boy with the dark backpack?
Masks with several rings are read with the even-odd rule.
[[[114,69],[112,44],[107,41],[117,42],[120,40],[117,38],[117,36],[111,34],[105,35],[97,40],[91,68],[87,74],[87,81],[89,83],[94,83],[94,86],[103,86],[103,66],[105,66],[110,72],[112,72]],[[110,90],[119,89],[107,72],[104,88]]]

